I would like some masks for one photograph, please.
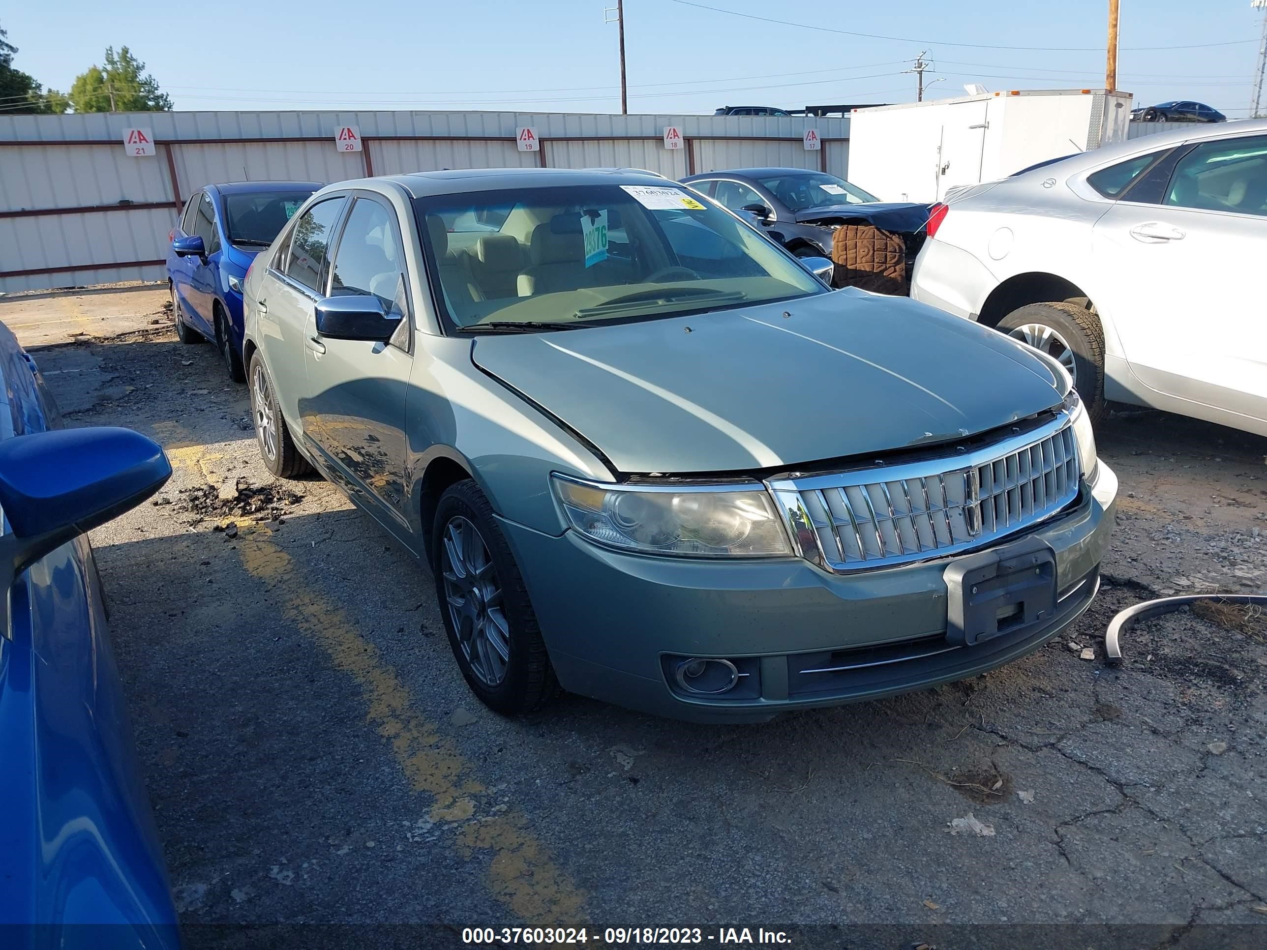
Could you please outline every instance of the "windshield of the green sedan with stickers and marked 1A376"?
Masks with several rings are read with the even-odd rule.
[[[826,290],[758,231],[679,186],[479,191],[416,206],[450,329],[571,329]]]

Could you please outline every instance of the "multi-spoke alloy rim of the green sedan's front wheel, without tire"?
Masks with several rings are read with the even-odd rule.
[[[484,685],[497,687],[506,679],[511,661],[511,628],[488,545],[461,516],[445,526],[443,542],[440,569],[445,605],[462,656]]]

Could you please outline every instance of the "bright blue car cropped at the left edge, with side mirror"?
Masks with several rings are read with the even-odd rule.
[[[85,537],[170,475],[131,429],[58,428],[34,361],[0,324],[5,950],[180,947]]]

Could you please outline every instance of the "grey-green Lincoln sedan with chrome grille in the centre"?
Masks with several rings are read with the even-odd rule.
[[[1117,480],[1059,364],[831,290],[664,179],[345,181],[245,296],[266,464],[427,560],[499,712],[882,697],[1015,660],[1096,594]]]

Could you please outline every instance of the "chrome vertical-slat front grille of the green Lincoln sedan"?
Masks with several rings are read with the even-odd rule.
[[[835,571],[941,557],[1020,531],[1078,494],[1064,413],[1036,432],[903,465],[770,481],[801,554]]]

